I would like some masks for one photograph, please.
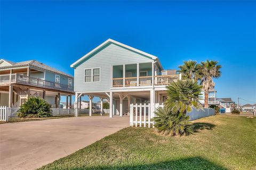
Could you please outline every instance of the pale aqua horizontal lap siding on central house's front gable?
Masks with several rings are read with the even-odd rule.
[[[109,91],[110,65],[152,62],[151,59],[110,44],[75,69],[75,91]],[[84,69],[100,67],[100,82],[84,83]]]

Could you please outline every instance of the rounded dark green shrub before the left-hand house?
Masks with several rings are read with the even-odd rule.
[[[18,111],[18,117],[50,117],[52,111],[50,104],[46,100],[38,97],[30,97],[21,105]]]

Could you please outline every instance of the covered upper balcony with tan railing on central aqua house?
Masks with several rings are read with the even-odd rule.
[[[112,67],[111,87],[168,85],[179,80],[180,74],[161,75],[154,63],[115,65]],[[153,82],[154,80],[154,82]]]

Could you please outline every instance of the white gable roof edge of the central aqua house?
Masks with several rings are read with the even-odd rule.
[[[124,47],[124,48],[133,50],[134,52],[137,52],[137,53],[146,55],[146,56],[152,58],[153,60],[157,60],[157,57],[154,56],[154,55],[151,55],[151,54],[142,52],[142,51],[139,50],[139,49],[136,49],[136,48],[127,46],[127,45],[125,45],[125,44],[119,43],[118,41],[115,41],[115,40],[109,38],[109,39],[106,40],[104,43],[102,43],[102,44],[99,45],[98,47],[96,47],[96,48],[94,48],[93,50],[91,50],[91,52],[89,52],[89,53],[87,53],[86,55],[84,55],[83,57],[79,58],[79,60],[77,60],[75,63],[71,64],[70,67],[73,67],[73,68],[74,68],[76,64],[82,62],[86,57],[90,56],[91,54],[93,54],[94,52],[96,52],[98,49],[100,49],[101,47],[105,46],[107,43],[114,43],[114,44],[117,44],[117,45],[122,46],[122,47]],[[159,63],[159,64],[160,64],[160,63]],[[160,64],[160,65],[161,65],[161,64]],[[161,65],[161,67],[162,67],[162,65]]]

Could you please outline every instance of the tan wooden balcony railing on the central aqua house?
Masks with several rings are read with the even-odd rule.
[[[156,75],[155,76],[155,85],[168,85],[172,82],[178,81],[180,79],[179,74],[174,75]],[[142,76],[137,79],[137,77],[130,78],[113,78],[113,87],[123,87],[124,80],[125,86],[137,86],[139,81],[139,86],[150,86],[152,85],[151,76]]]

